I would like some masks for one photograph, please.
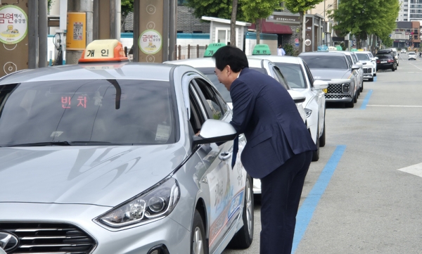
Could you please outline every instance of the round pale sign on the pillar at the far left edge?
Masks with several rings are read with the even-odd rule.
[[[28,32],[28,17],[18,6],[0,7],[0,42],[17,44]]]

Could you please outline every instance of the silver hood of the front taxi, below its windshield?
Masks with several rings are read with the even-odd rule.
[[[0,202],[115,206],[165,178],[183,146],[0,148]]]

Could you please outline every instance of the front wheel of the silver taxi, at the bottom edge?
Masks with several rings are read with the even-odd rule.
[[[208,244],[205,239],[204,222],[198,210],[193,215],[191,233],[191,254],[207,254]]]

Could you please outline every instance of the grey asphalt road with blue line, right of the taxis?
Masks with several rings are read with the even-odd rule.
[[[395,72],[364,82],[354,108],[327,105],[326,146],[305,179],[292,253],[422,253],[422,58],[399,59]],[[259,246],[255,203],[252,246],[223,253]]]

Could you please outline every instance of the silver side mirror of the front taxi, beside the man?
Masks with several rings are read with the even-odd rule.
[[[229,122],[206,120],[200,128],[200,134],[193,136],[193,144],[210,144],[231,141],[236,138],[236,129]]]

